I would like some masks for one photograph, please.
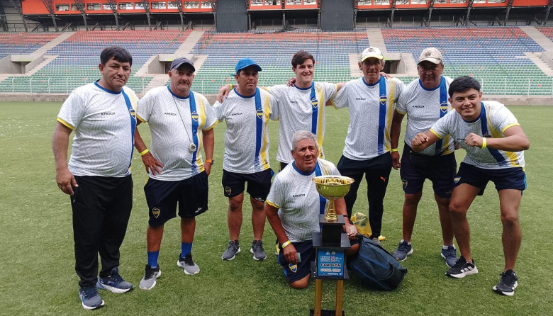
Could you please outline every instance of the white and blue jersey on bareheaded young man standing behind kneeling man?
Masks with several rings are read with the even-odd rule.
[[[277,160],[289,164],[292,157],[292,136],[298,130],[308,130],[317,137],[319,157],[324,158],[323,139],[325,137],[325,103],[336,94],[337,85],[328,82],[315,82],[306,89],[297,86],[278,85],[267,88],[278,106],[274,108],[274,119],[280,120],[279,149]]]

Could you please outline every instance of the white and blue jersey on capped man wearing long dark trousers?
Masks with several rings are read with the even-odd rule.
[[[364,78],[347,81],[333,98],[336,108],[350,108],[344,156],[368,160],[389,152],[394,103],[404,89],[398,79],[380,77],[375,84]]]

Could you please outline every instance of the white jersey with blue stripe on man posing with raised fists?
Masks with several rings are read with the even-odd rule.
[[[430,132],[442,139],[451,135],[462,148],[467,150],[463,162],[482,169],[502,169],[524,167],[524,152],[508,152],[505,150],[486,147],[471,147],[464,142],[471,132],[481,137],[502,138],[503,132],[511,126],[520,125],[508,108],[497,101],[481,103],[480,117],[474,122],[463,120],[457,111],[447,113],[443,118],[432,125]]]

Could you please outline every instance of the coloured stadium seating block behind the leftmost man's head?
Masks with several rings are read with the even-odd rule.
[[[29,92],[31,85],[34,91],[43,93],[68,93],[77,86],[99,79],[97,67],[104,47],[125,47],[133,55],[133,69],[136,71],[152,55],[175,52],[189,33],[180,30],[79,31],[47,52],[57,57],[43,69],[30,77],[10,77],[2,81],[0,92]],[[140,92],[150,79],[131,74],[127,85]]]

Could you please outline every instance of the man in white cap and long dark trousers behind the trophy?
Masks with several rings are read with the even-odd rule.
[[[390,128],[394,103],[403,91],[403,82],[386,79],[384,55],[376,47],[362,52],[359,69],[363,77],[348,81],[333,98],[336,108],[350,108],[350,126],[337,169],[355,182],[345,196],[347,215],[352,215],[359,184],[365,175],[369,199],[369,223],[373,240],[378,241],[384,213],[384,195],[392,168]]]

